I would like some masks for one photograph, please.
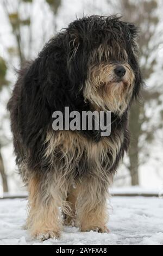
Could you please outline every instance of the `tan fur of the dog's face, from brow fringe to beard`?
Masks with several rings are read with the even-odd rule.
[[[118,56],[118,61],[126,68],[126,75],[122,82],[117,82],[114,72],[117,64],[110,63],[110,56]],[[119,115],[124,113],[134,86],[134,72],[127,61],[126,51],[122,51],[118,45],[108,48],[101,45],[92,53],[84,88],[84,98],[85,101],[92,103],[94,109],[110,110]]]

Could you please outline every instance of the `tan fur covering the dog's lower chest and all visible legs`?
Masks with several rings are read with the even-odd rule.
[[[72,131],[47,134],[44,157],[51,164],[51,172],[47,172],[46,175],[33,175],[28,181],[27,227],[34,237],[44,240],[59,236],[62,230],[59,207],[66,216],[65,224],[78,224],[83,231],[107,231],[105,202],[111,176],[106,174],[102,162],[110,161],[110,167],[114,163],[123,136],[115,138],[115,141],[108,137],[95,143]],[[54,161],[55,149],[60,149],[61,159],[64,158],[64,161]],[[87,161],[95,163],[96,168],[79,180],[75,178],[74,173],[84,151]],[[108,151],[112,155],[112,160],[105,159]]]

